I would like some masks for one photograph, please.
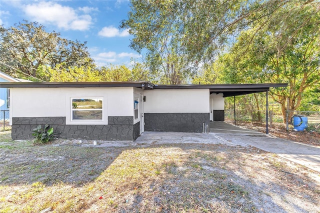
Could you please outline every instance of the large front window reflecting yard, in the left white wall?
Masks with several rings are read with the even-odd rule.
[[[71,101],[71,120],[102,120],[102,97],[73,97]]]

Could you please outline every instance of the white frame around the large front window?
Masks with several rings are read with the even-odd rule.
[[[98,109],[74,109],[72,105],[72,99],[101,99],[102,100],[102,108]],[[104,113],[105,113],[105,99],[101,96],[72,96],[69,98],[69,124],[104,124]],[[75,110],[84,110],[84,111],[102,111],[102,119],[73,119],[73,111]]]

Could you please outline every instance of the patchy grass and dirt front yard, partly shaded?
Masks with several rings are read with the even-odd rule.
[[[0,134],[0,212],[320,212],[319,188],[319,173],[254,147]]]

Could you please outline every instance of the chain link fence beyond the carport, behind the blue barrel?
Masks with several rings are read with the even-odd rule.
[[[305,131],[318,132],[320,133],[320,111],[287,111],[286,113],[286,129],[292,130],[293,124],[291,123],[291,117],[293,115],[300,115],[307,117],[307,127]],[[265,124],[266,114],[265,110],[235,110],[234,109],[225,109],[224,110],[224,119],[225,121],[232,122],[255,122]],[[279,112],[272,110],[268,111],[268,124],[269,127],[272,127],[275,123],[284,123],[283,116]]]

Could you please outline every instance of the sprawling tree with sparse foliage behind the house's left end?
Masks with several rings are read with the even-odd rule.
[[[58,32],[46,32],[44,26],[37,22],[24,22],[12,27],[0,27],[0,60],[7,66],[2,70],[13,76],[38,77],[47,80],[42,65],[54,68],[57,64],[69,66],[90,66],[87,47],[79,41],[60,37]],[[13,69],[11,67],[13,67]],[[19,70],[19,73],[16,70]]]

